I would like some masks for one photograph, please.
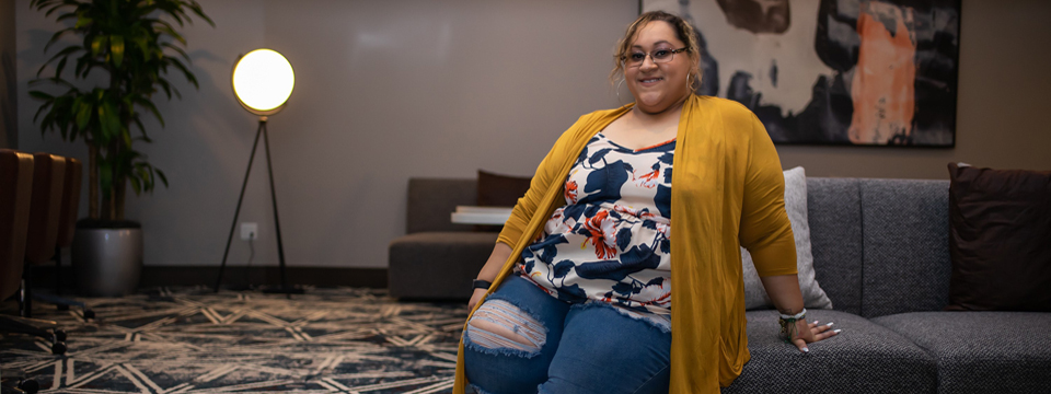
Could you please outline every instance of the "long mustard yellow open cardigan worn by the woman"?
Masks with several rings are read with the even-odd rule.
[[[488,293],[565,205],[563,185],[588,140],[628,111],[631,105],[581,116],[558,138],[504,225],[497,242],[513,252]],[[717,393],[749,360],[740,246],[751,253],[760,276],[796,274],[785,182],[777,151],[755,115],[709,96],[692,95],[683,104],[672,167],[671,393]],[[454,393],[463,393],[465,384],[461,338]]]

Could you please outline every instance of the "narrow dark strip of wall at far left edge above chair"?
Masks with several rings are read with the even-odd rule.
[[[14,0],[0,0],[0,148],[19,147]]]

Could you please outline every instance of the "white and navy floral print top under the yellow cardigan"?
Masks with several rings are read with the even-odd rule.
[[[566,206],[522,252],[519,275],[567,302],[671,310],[675,141],[632,150],[596,135],[566,178]]]

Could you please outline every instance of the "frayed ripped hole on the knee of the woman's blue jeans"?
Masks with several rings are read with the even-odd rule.
[[[464,346],[487,355],[532,358],[547,340],[547,328],[507,300],[485,301],[467,322]]]

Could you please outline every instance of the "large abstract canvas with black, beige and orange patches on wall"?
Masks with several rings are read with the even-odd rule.
[[[959,0],[643,0],[702,48],[698,94],[775,143],[954,147]]]

